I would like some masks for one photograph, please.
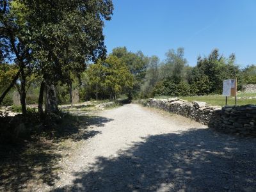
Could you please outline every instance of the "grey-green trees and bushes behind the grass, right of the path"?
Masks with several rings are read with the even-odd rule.
[[[238,88],[242,83],[254,83],[256,70],[254,66],[244,68],[241,72],[235,65],[235,56],[224,58],[214,49],[208,57],[198,57],[197,65],[189,67],[184,58],[184,49],[177,51],[171,49],[166,53],[166,60],[161,63],[158,70],[158,78],[154,83],[149,83],[146,75],[145,83],[141,86],[141,97],[154,95],[186,96],[208,95],[221,93],[224,79],[238,78]],[[152,76],[152,68],[148,68],[147,74]],[[149,78],[150,79],[150,78]],[[156,79],[156,78],[154,78]],[[150,85],[154,88],[147,92]]]

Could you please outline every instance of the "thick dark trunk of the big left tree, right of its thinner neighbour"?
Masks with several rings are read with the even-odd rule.
[[[46,82],[46,113],[58,113],[58,104],[56,99],[55,87],[51,82]]]

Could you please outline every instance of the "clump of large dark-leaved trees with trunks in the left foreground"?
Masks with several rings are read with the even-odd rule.
[[[15,53],[15,63],[20,68],[20,90],[24,93],[21,96],[21,102],[25,105],[24,110],[26,72],[30,72],[24,69],[33,64],[33,68],[44,79],[41,83],[38,111],[42,111],[44,88],[49,92],[46,111],[58,111],[54,84],[58,81],[69,83],[70,72],[79,76],[85,68],[86,61],[95,61],[106,54],[102,29],[104,20],[111,19],[112,1],[8,2],[10,3],[7,3],[3,13],[1,12],[1,44],[4,44],[1,57],[6,52],[8,55]],[[13,80],[13,84],[15,81],[17,78]],[[26,113],[23,111],[24,105],[22,104],[22,112]]]

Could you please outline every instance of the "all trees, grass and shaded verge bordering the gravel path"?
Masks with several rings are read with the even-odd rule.
[[[107,52],[103,29],[113,10],[111,0],[0,1],[0,191],[38,177],[52,185],[54,165],[67,155],[57,151],[109,121],[97,111],[150,97],[223,105],[223,79],[237,78],[238,90],[256,84],[256,65],[242,68],[218,49],[194,67],[182,47],[163,61],[126,47]],[[256,104],[255,96],[241,92],[237,104]]]

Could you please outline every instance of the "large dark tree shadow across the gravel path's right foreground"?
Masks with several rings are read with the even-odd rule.
[[[98,157],[54,191],[256,191],[256,140],[189,129]]]

